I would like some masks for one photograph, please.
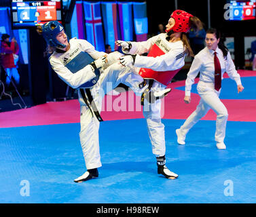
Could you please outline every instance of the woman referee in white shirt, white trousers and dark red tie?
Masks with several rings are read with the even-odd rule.
[[[217,114],[215,141],[217,149],[226,149],[224,144],[225,127],[227,123],[227,109],[219,99],[221,92],[221,79],[223,73],[227,73],[231,79],[236,81],[238,93],[244,90],[240,75],[236,71],[234,62],[228,52],[227,47],[219,42],[220,34],[215,28],[209,28],[206,31],[206,47],[201,50],[194,58],[191,64],[187,79],[185,82],[185,103],[191,102],[190,91],[194,79],[200,72],[200,81],[197,90],[201,100],[196,107],[196,111],[191,113],[185,123],[176,130],[177,142],[185,144],[187,132],[194,126],[206,113],[213,109]]]

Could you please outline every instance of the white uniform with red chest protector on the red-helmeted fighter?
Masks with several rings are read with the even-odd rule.
[[[136,72],[145,79],[154,79],[151,90],[164,90],[172,77],[185,64],[185,47],[182,41],[171,43],[166,40],[168,35],[161,33],[143,42],[130,42],[132,47],[129,54],[144,54],[136,56],[134,66]],[[149,104],[145,100],[143,115],[147,120],[147,130],[152,144],[152,151],[156,157],[166,153],[164,124],[161,121],[161,100]]]

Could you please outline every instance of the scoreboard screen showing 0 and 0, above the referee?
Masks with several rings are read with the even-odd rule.
[[[230,1],[230,20],[254,20],[256,0]]]

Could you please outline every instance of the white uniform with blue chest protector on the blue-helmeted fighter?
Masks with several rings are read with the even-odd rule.
[[[89,54],[90,58],[92,58],[92,62],[106,54],[104,52],[97,52],[86,40],[73,38],[69,43],[70,48],[67,52],[54,52],[54,54],[50,56],[50,64],[60,79],[65,81],[69,86],[75,89],[81,87],[90,88],[99,113],[102,108],[103,98],[105,94],[107,94],[107,82],[111,82],[113,88],[117,87],[120,83],[124,83],[131,87],[134,92],[141,93],[147,87],[145,86],[145,88],[140,89],[139,84],[143,82],[143,79],[139,75],[132,73],[129,68],[118,64],[117,59],[120,58],[122,54],[118,52],[109,54],[108,60],[111,65],[109,66],[109,64],[107,64],[103,66],[96,75],[96,71],[94,71],[90,63],[87,64],[87,66],[81,66],[84,62],[83,55]],[[117,62],[113,63],[115,61]],[[86,106],[81,93],[78,93],[81,111],[81,131],[79,137],[86,167],[90,170],[101,166],[98,142],[99,121],[94,115],[92,116],[92,112],[88,109],[88,106]]]

